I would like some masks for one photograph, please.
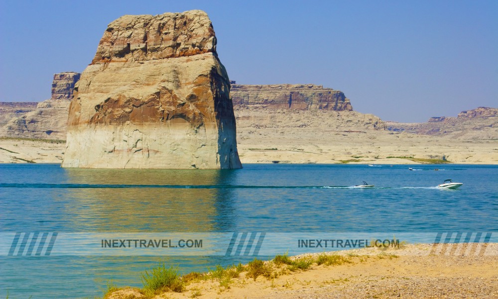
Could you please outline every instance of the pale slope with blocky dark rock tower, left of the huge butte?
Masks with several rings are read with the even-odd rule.
[[[79,73],[54,74],[52,97],[37,103],[36,109],[11,118],[0,128],[0,136],[41,139],[66,139],[67,114]]]

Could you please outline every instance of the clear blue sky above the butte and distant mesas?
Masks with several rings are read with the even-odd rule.
[[[423,122],[498,107],[498,1],[0,2],[0,101],[50,98],[124,14],[205,10],[240,84],[314,83],[353,109]]]

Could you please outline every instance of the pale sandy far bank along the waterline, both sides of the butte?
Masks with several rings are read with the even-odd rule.
[[[242,130],[241,130],[242,131]],[[486,141],[433,142],[426,136],[379,135],[375,142],[361,133],[345,133],[337,139],[289,141],[283,136],[258,136],[238,145],[242,163],[320,163],[320,164],[498,164],[498,145]],[[66,144],[33,139],[0,138],[0,163],[60,163]]]

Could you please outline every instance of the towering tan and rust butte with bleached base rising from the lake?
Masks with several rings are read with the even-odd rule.
[[[75,87],[62,166],[242,167],[230,83],[204,11],[109,24]]]

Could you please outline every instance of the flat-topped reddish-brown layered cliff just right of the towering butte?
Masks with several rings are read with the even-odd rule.
[[[232,85],[234,105],[268,109],[351,111],[351,103],[342,91],[321,85]]]

